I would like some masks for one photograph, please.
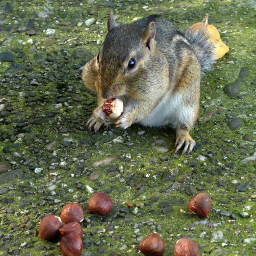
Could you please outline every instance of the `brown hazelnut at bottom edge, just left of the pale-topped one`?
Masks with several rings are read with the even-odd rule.
[[[151,233],[141,241],[139,249],[146,256],[162,256],[165,245],[159,234]]]

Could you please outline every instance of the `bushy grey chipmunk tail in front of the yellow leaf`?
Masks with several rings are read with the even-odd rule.
[[[184,32],[184,36],[195,51],[201,64],[202,72],[204,73],[211,69],[215,63],[214,59],[216,59],[216,47],[210,42],[210,36],[206,33],[206,30],[198,30],[197,32],[187,30]]]

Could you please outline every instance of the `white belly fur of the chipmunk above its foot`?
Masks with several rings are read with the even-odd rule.
[[[158,127],[172,123],[174,127],[179,124],[193,126],[195,112],[191,106],[184,106],[182,95],[166,95],[151,112],[150,116],[140,121],[144,126]]]

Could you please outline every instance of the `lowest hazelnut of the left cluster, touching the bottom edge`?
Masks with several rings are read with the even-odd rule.
[[[60,252],[63,256],[80,256],[83,250],[83,241],[79,234],[68,233],[60,240]]]

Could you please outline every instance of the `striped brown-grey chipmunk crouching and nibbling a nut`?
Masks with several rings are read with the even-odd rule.
[[[176,129],[176,154],[196,145],[189,132],[199,112],[200,82],[214,64],[215,50],[203,31],[180,31],[168,19],[150,15],[131,24],[117,24],[113,11],[99,53],[83,68],[82,80],[97,93],[98,107],[87,122],[90,131],[115,123]],[[105,100],[120,98],[123,114],[111,120],[102,110]]]

